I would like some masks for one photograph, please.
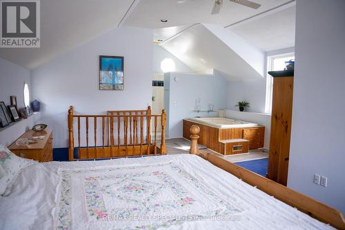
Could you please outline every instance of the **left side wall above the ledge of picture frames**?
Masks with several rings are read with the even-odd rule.
[[[10,96],[17,96],[18,108],[24,107],[24,83],[28,83],[31,91],[30,70],[0,59],[0,101],[10,105]],[[32,94],[30,99],[32,101]]]

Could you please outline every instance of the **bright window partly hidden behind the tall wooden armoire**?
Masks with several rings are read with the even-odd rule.
[[[267,57],[267,72],[268,71],[278,71],[284,70],[285,62],[295,59],[295,53],[279,54],[275,56]],[[273,95],[273,77],[270,74],[266,76],[266,114],[271,114],[272,112],[272,95]]]

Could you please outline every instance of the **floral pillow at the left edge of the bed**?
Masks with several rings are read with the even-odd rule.
[[[21,173],[21,170],[32,164],[34,164],[34,160],[20,158],[8,148],[0,145],[0,195],[10,194],[14,180]]]

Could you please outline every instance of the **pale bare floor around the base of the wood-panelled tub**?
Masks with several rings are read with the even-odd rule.
[[[166,140],[167,154],[188,154],[189,148],[190,148],[190,141],[186,140],[185,138],[172,138],[172,139]],[[248,154],[236,154],[233,156],[223,156],[211,149],[207,149],[203,145],[199,145],[199,152],[201,153],[207,152],[210,154],[215,154],[232,163],[268,158],[268,151],[266,149],[253,149],[253,150],[250,150]]]

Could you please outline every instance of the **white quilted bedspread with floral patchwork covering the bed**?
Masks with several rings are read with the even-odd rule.
[[[333,229],[190,154],[22,171],[0,229]]]

